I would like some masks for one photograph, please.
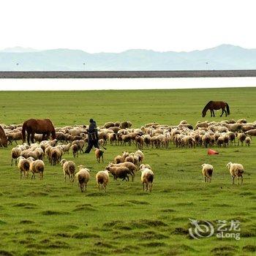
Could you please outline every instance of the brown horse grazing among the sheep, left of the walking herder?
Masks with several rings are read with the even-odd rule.
[[[56,139],[55,129],[53,127],[53,123],[50,119],[29,119],[24,121],[22,126],[22,140],[23,143],[26,140],[26,133],[28,135],[28,143],[31,135],[31,141],[34,143],[34,134],[39,133],[42,134],[42,140],[49,138],[50,134],[52,135],[53,140]],[[30,143],[29,143],[30,145]]]

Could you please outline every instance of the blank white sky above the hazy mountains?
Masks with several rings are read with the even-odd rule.
[[[0,50],[256,48],[252,0],[3,0]]]

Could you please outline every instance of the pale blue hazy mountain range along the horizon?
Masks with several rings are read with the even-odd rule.
[[[0,71],[205,69],[256,69],[256,49],[219,45],[190,52],[127,50],[122,53],[86,53],[83,50],[20,47],[0,50]]]

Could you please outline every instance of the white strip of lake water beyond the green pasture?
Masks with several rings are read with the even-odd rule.
[[[75,91],[256,87],[256,78],[0,79],[0,91]]]

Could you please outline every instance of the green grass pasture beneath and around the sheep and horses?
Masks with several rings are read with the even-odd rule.
[[[230,105],[229,118],[256,120],[256,88],[154,91],[0,92],[1,124],[28,118],[50,118],[56,126],[88,124],[94,118],[132,121],[132,127],[156,121],[176,125],[187,120],[221,121],[201,117],[209,100]],[[21,142],[20,142],[21,143]],[[15,146],[14,144],[12,146]],[[105,163],[91,152],[77,165],[91,169],[87,192],[64,183],[60,165],[45,160],[45,178],[21,180],[10,166],[11,147],[0,148],[0,255],[255,255],[256,143],[250,147],[145,149],[145,163],[155,173],[151,194],[142,192],[140,173],[134,182],[113,181],[98,192],[95,174],[117,154],[135,146],[107,146]],[[64,155],[72,159],[72,154]],[[211,184],[203,182],[201,165],[214,165]],[[232,186],[227,162],[244,165],[243,186]],[[239,220],[241,239],[192,239],[189,218]]]

